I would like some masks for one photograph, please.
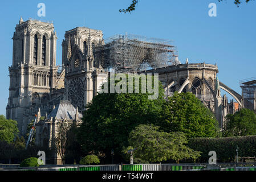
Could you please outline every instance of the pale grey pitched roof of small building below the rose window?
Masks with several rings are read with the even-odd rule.
[[[48,115],[48,118],[57,118],[57,119],[75,119],[76,108],[71,104],[70,101],[60,101],[58,105],[56,105],[55,109],[51,111]],[[78,114],[79,118],[82,118],[82,114]]]

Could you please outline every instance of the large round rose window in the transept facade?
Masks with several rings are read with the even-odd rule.
[[[81,78],[74,78],[68,84],[68,100],[74,107],[78,107],[79,111],[84,107],[84,82]]]

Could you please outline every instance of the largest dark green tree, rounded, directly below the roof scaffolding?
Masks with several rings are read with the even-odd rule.
[[[117,82],[119,81],[115,84]],[[128,86],[127,81],[127,88]],[[141,84],[139,86],[141,90]],[[135,85],[133,91],[134,89]],[[123,146],[128,146],[129,133],[136,126],[159,121],[165,101],[160,82],[159,97],[149,100],[148,96],[148,92],[101,93],[95,96],[84,111],[83,123],[79,127],[79,141],[84,152],[88,154],[94,151],[97,154],[102,151],[108,155],[113,149],[115,154],[121,155]]]

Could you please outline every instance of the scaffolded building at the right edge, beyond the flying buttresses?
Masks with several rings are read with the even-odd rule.
[[[239,81],[242,88],[243,105],[247,109],[256,110],[256,77]]]

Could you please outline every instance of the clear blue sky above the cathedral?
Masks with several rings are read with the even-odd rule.
[[[186,57],[189,63],[217,63],[220,80],[238,93],[239,80],[256,76],[256,1],[243,2],[237,8],[233,0],[140,0],[132,14],[119,13],[131,1],[2,1],[0,114],[5,114],[9,97],[11,38],[21,16],[25,21],[53,21],[58,36],[57,64],[62,61],[64,32],[86,26],[102,30],[104,38],[128,32],[173,40],[181,63],[185,63]],[[217,17],[208,15],[212,2],[217,5]],[[46,5],[46,17],[37,16],[38,3]]]

